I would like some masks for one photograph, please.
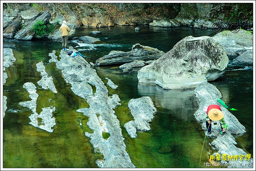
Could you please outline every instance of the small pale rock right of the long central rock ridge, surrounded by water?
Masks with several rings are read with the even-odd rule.
[[[128,103],[130,113],[138,131],[149,131],[151,120],[157,112],[150,97],[131,99]]]

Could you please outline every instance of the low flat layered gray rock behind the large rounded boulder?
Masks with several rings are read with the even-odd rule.
[[[153,60],[162,55],[164,55],[164,52],[156,48],[135,44],[129,52],[111,51],[108,55],[97,59],[96,65],[125,64],[134,60]]]

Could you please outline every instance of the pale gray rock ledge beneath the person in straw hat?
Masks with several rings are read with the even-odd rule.
[[[206,82],[202,85],[196,87],[194,90],[194,94],[198,98],[199,101],[199,109],[194,113],[194,116],[196,120],[201,124],[202,129],[207,131],[206,128],[206,112],[203,111],[204,106],[208,107],[210,104],[217,104],[222,109],[222,112],[224,114],[224,119],[226,124],[228,124],[227,130],[220,134],[220,124],[219,121],[217,121],[217,125],[212,125],[212,132],[207,135],[209,137],[214,137],[213,142],[210,144],[213,146],[212,148],[218,150],[218,153],[214,153],[215,159],[217,158],[218,154],[227,154],[227,155],[247,155],[244,150],[237,148],[235,145],[236,140],[231,134],[235,134],[236,136],[241,136],[246,132],[246,129],[241,123],[236,119],[236,117],[229,112],[228,109],[222,106],[217,101],[217,98],[222,98],[221,93],[219,90],[212,84]],[[215,139],[216,137],[216,139]],[[226,161],[223,160],[223,158],[220,158],[220,162],[225,164]],[[227,156],[228,157],[228,156]],[[218,161],[215,161],[218,162]],[[248,167],[252,167],[252,159],[250,161],[243,160],[229,160],[228,167],[244,167],[246,164],[250,163]]]

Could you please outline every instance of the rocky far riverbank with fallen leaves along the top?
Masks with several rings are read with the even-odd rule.
[[[232,11],[234,6],[236,11]],[[4,3],[3,37],[18,40],[31,40],[42,36],[60,41],[58,32],[62,21],[67,21],[70,35],[81,25],[90,27],[114,27],[114,25],[151,25],[156,27],[194,27],[211,28],[220,18],[231,18],[230,13],[242,12],[246,17],[235,18],[238,24],[245,19],[243,29],[252,25],[252,4],[225,5],[230,12],[218,11],[223,4],[212,3]],[[233,14],[234,15],[234,14]],[[38,36],[31,27],[37,21],[43,21],[47,30]],[[139,29],[138,29],[139,30]],[[48,32],[49,31],[49,32]]]

